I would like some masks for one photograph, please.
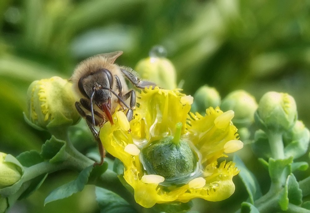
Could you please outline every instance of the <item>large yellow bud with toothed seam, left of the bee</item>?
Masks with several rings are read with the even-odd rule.
[[[55,129],[75,124],[80,115],[74,107],[72,84],[60,77],[36,80],[28,88],[26,121],[35,128]]]

